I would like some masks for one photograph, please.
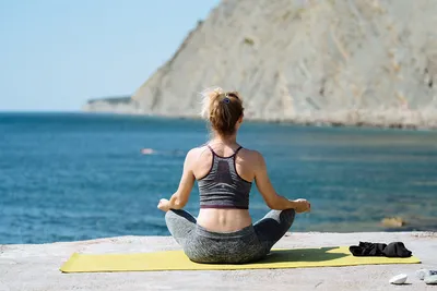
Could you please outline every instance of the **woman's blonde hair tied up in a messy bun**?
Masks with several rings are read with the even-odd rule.
[[[237,92],[224,92],[221,87],[208,88],[201,93],[201,117],[223,136],[235,133],[235,124],[244,113],[243,100]]]

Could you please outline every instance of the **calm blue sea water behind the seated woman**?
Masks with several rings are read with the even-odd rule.
[[[169,234],[156,204],[206,138],[192,120],[0,113],[0,244]],[[263,153],[279,193],[310,199],[295,231],[388,230],[390,216],[437,230],[436,132],[245,123],[239,141]],[[250,204],[253,219],[268,211],[255,185]]]

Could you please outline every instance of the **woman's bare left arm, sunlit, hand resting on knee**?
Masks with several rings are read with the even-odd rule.
[[[179,187],[172,195],[169,201],[161,199],[158,208],[163,211],[168,211],[169,209],[181,209],[187,204],[192,186],[194,185],[194,173],[192,172],[193,161],[194,161],[194,150],[188,151],[187,157],[184,162],[184,172],[180,178]]]

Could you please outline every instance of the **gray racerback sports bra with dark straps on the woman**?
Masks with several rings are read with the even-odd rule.
[[[249,208],[249,193],[252,183],[244,180],[237,173],[234,155],[221,157],[208,145],[212,153],[210,171],[198,180],[200,208]]]

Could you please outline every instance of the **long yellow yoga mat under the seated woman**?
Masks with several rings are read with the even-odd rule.
[[[354,265],[417,264],[414,256],[409,258],[356,257],[347,246],[273,250],[257,263],[241,265],[197,264],[184,251],[166,251],[138,254],[78,254],[60,268],[63,272],[92,271],[149,271],[149,270],[232,270],[232,269],[280,269],[307,267],[340,267]]]

